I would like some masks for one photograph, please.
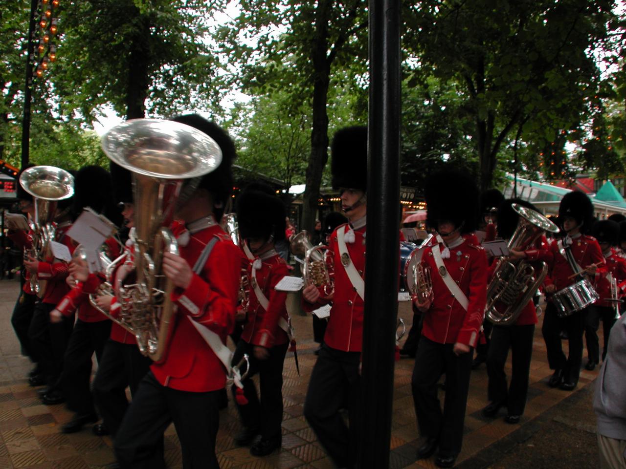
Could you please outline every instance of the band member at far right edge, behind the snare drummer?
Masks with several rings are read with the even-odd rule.
[[[585,338],[587,339],[588,361],[586,370],[593,370],[600,363],[600,346],[598,345],[597,330],[602,319],[602,330],[604,331],[604,346],[602,348],[602,361],[607,355],[608,335],[613,324],[617,321],[615,311],[619,306],[612,300],[612,283],[615,281],[615,293],[618,293],[617,286],[626,280],[626,260],[617,254],[613,246],[617,245],[620,226],[617,222],[607,219],[593,223],[592,235],[598,241],[602,256],[607,263],[607,273],[601,275],[596,273],[595,290],[600,295],[598,301],[589,307],[587,321],[585,322]],[[607,301],[607,299],[609,299]]]

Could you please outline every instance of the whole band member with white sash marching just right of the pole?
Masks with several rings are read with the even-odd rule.
[[[422,263],[431,271],[433,296],[414,306],[423,313],[422,336],[412,388],[419,433],[425,438],[418,459],[439,447],[435,464],[452,467],[461,451],[463,421],[473,349],[486,305],[487,258],[473,235],[478,219],[478,189],[468,173],[445,169],[426,186],[428,226],[439,242],[424,250]],[[437,382],[446,375],[443,411]]]

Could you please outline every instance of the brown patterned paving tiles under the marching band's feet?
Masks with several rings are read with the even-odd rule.
[[[71,418],[63,405],[41,405],[34,388],[28,386],[26,373],[31,369],[28,359],[19,354],[19,345],[11,328],[11,312],[18,297],[18,281],[0,281],[0,469],[4,468],[106,468],[114,462],[112,442],[108,437],[98,437],[86,426],[80,433],[63,435],[60,425]],[[410,326],[412,313],[408,303],[402,303],[399,316]],[[218,460],[222,469],[271,468],[332,468],[316,436],[307,425],[302,408],[315,363],[310,317],[294,315],[292,318],[298,338],[300,373],[297,375],[292,354],[287,354],[284,368],[284,415],[282,422],[282,450],[265,458],[251,456],[248,448],[238,448],[233,435],[239,430],[237,412],[230,403],[220,414],[220,431],[217,438]],[[487,404],[487,374],[485,366],[473,371],[469,386],[468,408],[465,420],[463,451],[458,464],[464,468],[491,466],[497,461],[525,449],[524,442],[532,435],[540,435],[538,422],[553,411],[555,405],[568,396],[588,396],[584,390],[597,372],[583,370],[580,393],[569,393],[546,386],[552,374],[546,361],[545,345],[541,338],[541,323],[535,331],[533,361],[530,372],[529,401],[521,425],[508,425],[502,419],[485,419],[480,410]],[[584,361],[584,360],[583,360]],[[392,468],[433,468],[434,458],[415,461],[419,437],[411,396],[411,373],[414,361],[403,358],[396,363],[394,381],[393,423],[390,448]],[[588,401],[588,397],[587,401]],[[584,399],[580,409],[590,405]],[[567,402],[567,401],[565,401]],[[503,411],[504,412],[504,411]],[[593,412],[585,414],[583,433],[591,435],[595,428]],[[575,419],[575,416],[572,417]],[[563,419],[562,419],[563,420]],[[552,422],[552,420],[548,420]],[[557,422],[558,423],[558,422]],[[571,422],[570,422],[571,423]],[[565,425],[565,424],[562,424]],[[588,431],[587,431],[588,430]],[[526,433],[524,433],[526,431]],[[520,436],[521,435],[521,436]],[[526,436],[524,436],[526,435]],[[528,436],[531,435],[531,436]],[[567,435],[565,435],[567,436]],[[567,439],[567,438],[566,438]],[[541,443],[541,442],[540,442]],[[500,446],[498,446],[500,445]],[[588,448],[587,448],[588,449]],[[595,451],[595,448],[592,448]],[[168,468],[181,468],[180,445],[173,426],[166,432],[165,456]],[[574,460],[577,460],[574,453]],[[580,458],[578,458],[580,459]],[[528,463],[527,465],[524,465]],[[561,467],[547,460],[545,465],[531,460],[516,459],[513,463],[493,467]],[[584,467],[584,466],[581,466]]]

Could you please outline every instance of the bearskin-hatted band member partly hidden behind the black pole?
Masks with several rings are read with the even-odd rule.
[[[324,298],[315,285],[302,291],[305,307],[332,302],[324,344],[310,376],[304,416],[332,460],[340,467],[356,459],[359,368],[363,333],[365,272],[367,128],[344,128],[334,136],[332,186],[341,190],[341,208],[349,219],[333,231],[327,262],[334,270],[334,293]],[[342,263],[343,260],[343,263]],[[329,268],[329,270],[331,270]],[[350,427],[339,410],[347,396]]]

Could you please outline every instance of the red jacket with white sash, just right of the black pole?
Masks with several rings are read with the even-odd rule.
[[[424,313],[422,335],[437,343],[462,343],[472,347],[485,318],[488,265],[485,250],[473,243],[475,237],[464,238],[461,245],[450,248],[444,259],[449,276],[468,298],[468,310],[452,296],[434,263],[433,248],[424,251],[422,262],[431,269],[433,303]]]

